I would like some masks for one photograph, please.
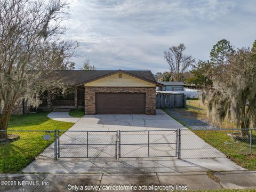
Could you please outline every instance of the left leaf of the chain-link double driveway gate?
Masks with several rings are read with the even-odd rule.
[[[117,158],[117,131],[60,130],[57,138],[58,157]]]

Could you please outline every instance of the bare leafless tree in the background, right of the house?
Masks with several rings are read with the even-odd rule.
[[[169,51],[164,52],[164,59],[171,69],[172,81],[183,81],[183,73],[195,63],[191,55],[183,54],[185,50],[185,45],[181,43],[179,46],[169,47]]]

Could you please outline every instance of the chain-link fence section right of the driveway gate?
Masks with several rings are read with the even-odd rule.
[[[256,155],[255,129],[181,130],[180,142],[183,159]]]

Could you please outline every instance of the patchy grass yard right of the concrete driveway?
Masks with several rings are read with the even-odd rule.
[[[199,100],[190,100],[190,108],[180,108],[174,109],[176,112],[178,111],[182,114],[182,117],[191,117],[199,120],[204,120],[209,122],[210,124],[214,124],[211,122],[210,118],[207,118],[206,107],[200,105],[199,110]],[[188,101],[187,101],[188,105]],[[166,110],[163,109],[166,114],[172,117],[172,115]],[[172,117],[173,118],[173,117]],[[175,118],[179,123],[191,129],[191,127],[187,126],[185,122],[182,122],[182,118]],[[231,129],[235,127],[233,122],[225,121],[222,125],[215,124],[222,129]],[[193,131],[198,137],[202,138],[204,141],[209,143],[214,148],[220,150],[223,154],[225,154],[228,158],[234,161],[236,164],[244,167],[248,170],[256,170],[256,143],[253,142],[252,145],[252,155],[250,155],[250,145],[249,138],[247,142],[243,141],[233,141],[228,133],[233,131]],[[234,131],[235,132],[235,131]],[[253,131],[253,137],[256,137],[256,132]]]

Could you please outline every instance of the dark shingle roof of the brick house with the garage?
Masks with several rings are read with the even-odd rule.
[[[63,79],[63,82],[67,85],[77,85],[92,79],[97,79],[101,76],[105,76],[111,73],[115,73],[118,70],[52,70],[51,77]],[[138,76],[148,81],[155,81],[155,78],[150,70],[123,70],[125,73]],[[49,75],[49,74],[47,74]]]

